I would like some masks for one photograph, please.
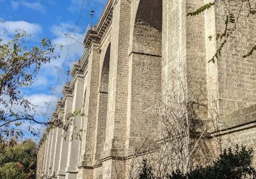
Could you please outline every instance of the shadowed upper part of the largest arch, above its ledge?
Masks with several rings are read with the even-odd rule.
[[[134,17],[132,51],[161,56],[163,0],[140,0]]]

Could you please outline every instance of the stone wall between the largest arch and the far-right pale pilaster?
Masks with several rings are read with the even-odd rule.
[[[187,16],[202,5],[200,0],[163,1],[161,80],[163,97],[184,86],[189,102],[207,105],[204,14]],[[205,118],[207,109],[200,111],[200,118]]]

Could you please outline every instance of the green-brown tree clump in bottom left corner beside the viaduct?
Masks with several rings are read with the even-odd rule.
[[[1,145],[0,179],[35,178],[35,171],[36,144],[33,141]]]

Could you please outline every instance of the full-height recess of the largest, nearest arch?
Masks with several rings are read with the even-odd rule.
[[[162,0],[133,1],[136,9],[129,55],[127,148],[148,137],[141,128],[156,126],[152,111],[161,93]],[[155,127],[156,128],[156,127]]]

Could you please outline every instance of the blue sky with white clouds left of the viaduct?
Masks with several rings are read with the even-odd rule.
[[[40,118],[51,116],[60,97],[61,86],[67,81],[67,67],[83,54],[83,45],[64,33],[83,42],[90,24],[90,11],[95,10],[93,24],[97,23],[106,0],[0,0],[0,35],[9,40],[16,29],[27,31],[33,40],[50,38],[52,43],[64,45],[61,58],[42,67],[24,95],[38,105]],[[4,32],[4,33],[3,33]]]

